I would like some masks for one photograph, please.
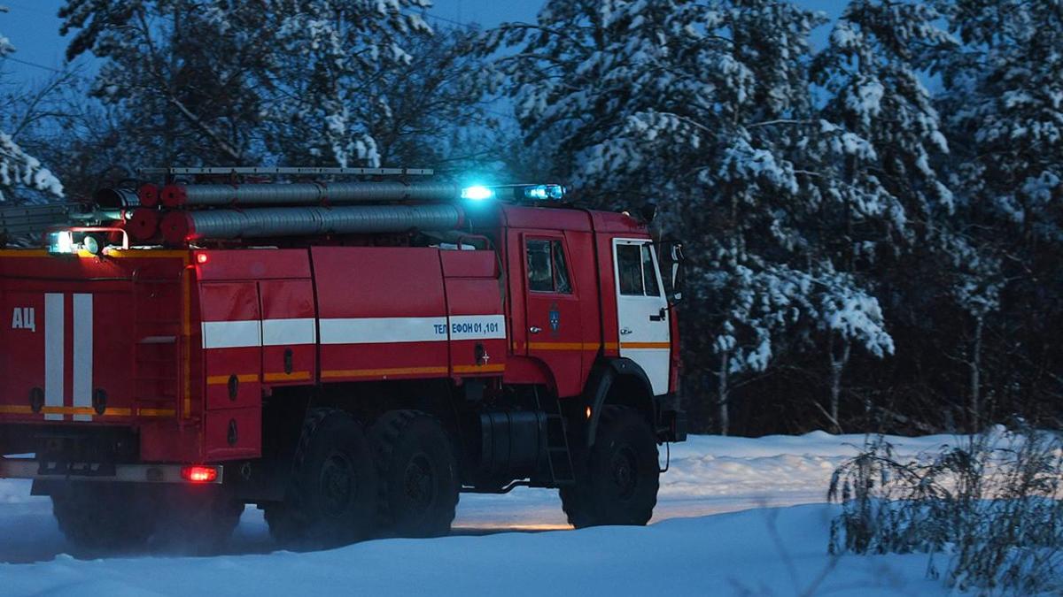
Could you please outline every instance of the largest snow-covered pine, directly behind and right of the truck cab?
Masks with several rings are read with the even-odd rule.
[[[819,161],[808,36],[822,18],[789,2],[546,2],[536,23],[491,32],[526,138],[601,206],[657,201],[690,245],[687,361],[719,380],[764,371],[838,334],[892,352],[877,302],[833,262],[815,226]]]

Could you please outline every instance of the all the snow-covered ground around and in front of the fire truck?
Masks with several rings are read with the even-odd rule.
[[[29,483],[0,481],[2,595],[947,594],[925,556],[827,556],[830,473],[862,436],[693,437],[673,446],[647,528],[571,530],[556,492],[462,495],[455,536],[276,551],[249,508],[229,551],[81,560]],[[955,441],[894,438],[902,455]]]

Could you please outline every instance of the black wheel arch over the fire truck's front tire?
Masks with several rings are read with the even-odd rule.
[[[657,412],[652,388],[646,372],[631,359],[620,357],[600,360],[587,383],[586,402],[591,409],[587,424],[587,446],[594,445],[602,407],[605,405],[631,407],[653,428]]]

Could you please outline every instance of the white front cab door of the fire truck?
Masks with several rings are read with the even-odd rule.
[[[620,356],[645,371],[654,395],[668,393],[671,332],[657,256],[649,240],[614,239]]]

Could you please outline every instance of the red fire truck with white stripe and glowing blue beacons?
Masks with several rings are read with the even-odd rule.
[[[679,246],[429,173],[146,170],[0,251],[0,477],[94,548],[215,545],[248,504],[294,547],[433,536],[517,485],[646,524],[686,439]]]

